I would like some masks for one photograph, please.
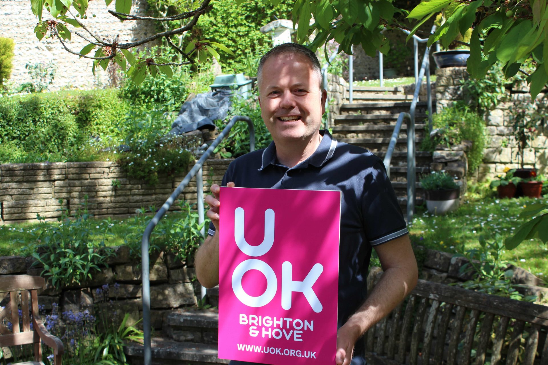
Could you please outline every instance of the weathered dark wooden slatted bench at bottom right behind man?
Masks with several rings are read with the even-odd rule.
[[[364,341],[373,365],[536,365],[548,364],[547,331],[548,306],[419,280]]]

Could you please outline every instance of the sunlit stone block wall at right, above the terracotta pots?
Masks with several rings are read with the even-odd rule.
[[[439,113],[444,107],[465,96],[461,80],[469,78],[465,67],[447,67],[436,70],[436,111]],[[507,89],[506,102],[500,103],[493,111],[485,115],[488,146],[484,152],[483,163],[473,173],[472,178],[483,180],[493,178],[503,172],[505,167],[511,169],[521,167],[516,138],[513,136],[513,121],[510,118],[512,105],[519,100],[530,100],[526,85],[521,88]],[[535,107],[545,108],[541,93],[535,100]],[[539,173],[548,173],[548,126],[546,121],[537,128],[536,136],[530,143],[530,148],[524,151],[524,166],[534,167]]]

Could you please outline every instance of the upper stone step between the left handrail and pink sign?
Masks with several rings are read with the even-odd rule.
[[[178,309],[164,317],[164,333],[175,341],[216,344],[218,320],[216,308]]]

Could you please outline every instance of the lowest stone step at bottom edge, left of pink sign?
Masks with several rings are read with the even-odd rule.
[[[227,364],[229,360],[217,358],[217,345],[185,343],[165,337],[152,338],[152,365],[203,365]],[[144,347],[130,343],[124,347],[128,363],[142,365]]]

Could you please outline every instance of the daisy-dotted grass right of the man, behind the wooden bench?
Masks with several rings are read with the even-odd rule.
[[[480,236],[487,241],[494,241],[513,235],[524,222],[518,217],[523,208],[539,202],[548,202],[548,197],[469,200],[446,216],[420,212],[410,226],[410,234],[415,244],[458,253],[479,247]],[[541,279],[548,279],[548,247],[539,239],[522,242],[514,250],[504,251],[503,259]]]

